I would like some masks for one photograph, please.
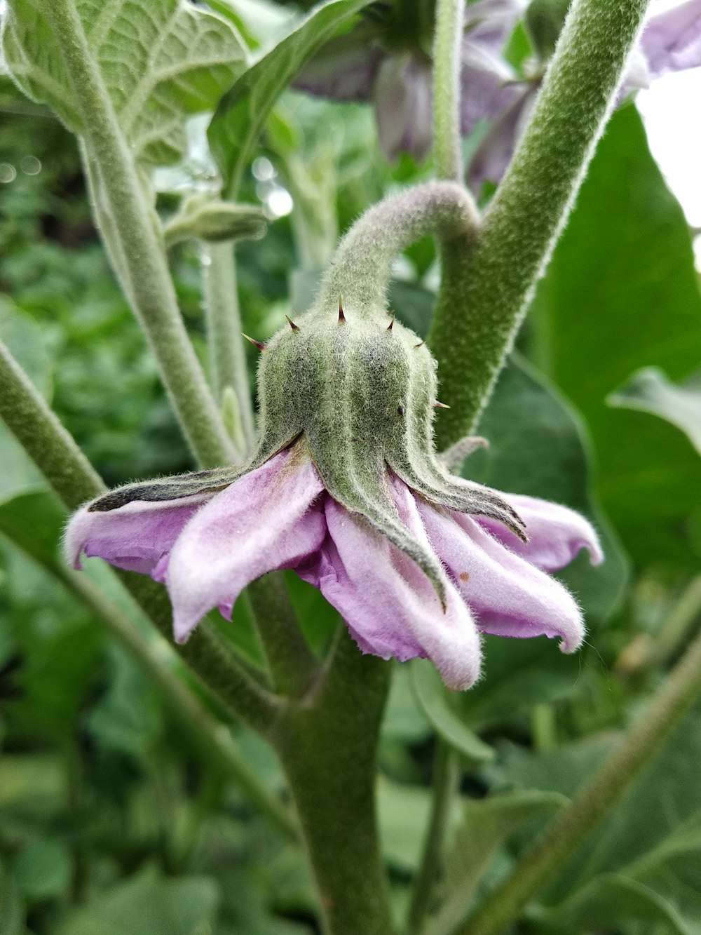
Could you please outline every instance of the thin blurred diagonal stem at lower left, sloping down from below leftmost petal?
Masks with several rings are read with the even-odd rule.
[[[236,783],[274,827],[288,838],[296,839],[298,832],[290,813],[260,783],[236,746],[229,729],[217,724],[190,689],[165,667],[160,652],[151,646],[149,640],[139,633],[122,611],[103,597],[90,579],[68,571],[60,578],[88,604],[107,626],[111,636],[122,644],[136,664],[158,686],[166,704],[207,760]]]

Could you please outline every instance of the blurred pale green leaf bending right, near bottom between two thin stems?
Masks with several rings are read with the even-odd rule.
[[[558,793],[534,789],[468,801],[463,822],[444,859],[444,901],[428,935],[452,931],[465,916],[484,871],[517,827],[556,812],[566,801]]]

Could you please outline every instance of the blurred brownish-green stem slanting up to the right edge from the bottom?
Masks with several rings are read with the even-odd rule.
[[[571,804],[520,858],[458,935],[500,935],[529,899],[563,868],[594,826],[636,779],[701,694],[701,635],[689,646],[644,716],[627,732]]]

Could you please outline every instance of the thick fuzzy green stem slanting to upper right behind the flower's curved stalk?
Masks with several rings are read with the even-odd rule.
[[[469,435],[601,136],[647,0],[576,0],[536,108],[479,228],[443,250],[429,345],[441,398],[438,447]]]

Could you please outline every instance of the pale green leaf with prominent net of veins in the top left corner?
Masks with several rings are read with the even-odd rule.
[[[7,66],[24,94],[81,133],[78,101],[45,8],[43,0],[9,3]],[[183,0],[78,0],[77,8],[136,160],[176,162],[185,150],[187,115],[212,110],[245,66],[236,29]]]

